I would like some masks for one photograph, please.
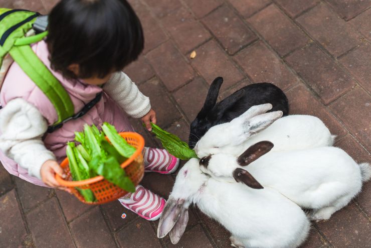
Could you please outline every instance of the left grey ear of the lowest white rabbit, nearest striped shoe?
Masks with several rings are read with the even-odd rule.
[[[157,237],[162,238],[174,227],[178,221],[184,201],[169,197],[163,208],[157,227]]]

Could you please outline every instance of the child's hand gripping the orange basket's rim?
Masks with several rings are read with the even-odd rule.
[[[55,174],[58,174],[62,178],[65,178],[66,175],[63,172],[63,169],[59,166],[59,164],[54,160],[46,161],[40,169],[40,175],[43,182],[53,188],[58,188],[62,190],[67,190],[67,188],[61,187],[57,180],[55,179]]]

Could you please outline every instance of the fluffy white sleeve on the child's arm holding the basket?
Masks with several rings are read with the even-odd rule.
[[[56,160],[42,137],[48,129],[46,119],[31,103],[16,98],[0,111],[0,149],[28,173],[41,179],[40,168],[47,160]]]

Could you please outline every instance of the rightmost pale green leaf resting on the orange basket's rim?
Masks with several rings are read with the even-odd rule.
[[[125,158],[130,158],[136,151],[135,147],[129,145],[116,131],[115,127],[107,122],[103,123],[102,130],[117,152]]]

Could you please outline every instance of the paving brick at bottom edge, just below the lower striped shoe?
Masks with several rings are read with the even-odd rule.
[[[116,239],[123,248],[161,248],[155,231],[148,220],[137,218],[130,225],[116,233]]]

